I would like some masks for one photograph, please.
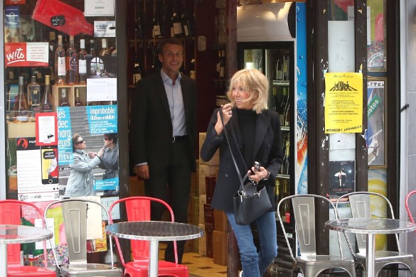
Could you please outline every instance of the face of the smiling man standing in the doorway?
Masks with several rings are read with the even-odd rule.
[[[159,61],[167,75],[177,74],[183,63],[183,47],[176,44],[164,45]]]

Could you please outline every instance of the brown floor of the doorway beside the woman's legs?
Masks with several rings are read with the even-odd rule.
[[[164,257],[166,244],[159,244],[159,259]],[[188,266],[189,277],[223,277],[227,276],[227,266],[214,264],[213,259],[195,252],[183,254],[182,264]]]

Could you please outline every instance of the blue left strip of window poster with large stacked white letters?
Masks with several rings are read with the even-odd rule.
[[[69,107],[58,107],[58,164],[68,165],[73,161],[73,137]]]

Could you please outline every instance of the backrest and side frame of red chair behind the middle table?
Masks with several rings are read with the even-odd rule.
[[[110,212],[110,223],[112,223],[111,212],[115,205],[119,205],[120,203],[124,203],[126,205],[127,211],[127,220],[128,221],[149,221],[151,220],[151,205],[158,204],[164,205],[166,210],[168,210],[171,216],[171,222],[175,221],[174,212],[172,211],[171,207],[168,203],[164,202],[163,200],[153,198],[153,197],[145,197],[145,196],[134,196],[134,197],[126,197],[120,200],[114,201],[109,208]],[[153,202],[153,203],[152,203]],[[122,251],[119,245],[119,241],[117,237],[114,237],[117,245],[117,249],[119,250],[119,256],[122,261],[123,266],[124,264],[124,257],[122,255]],[[131,240],[132,246],[132,254],[133,260],[143,260],[149,259],[149,241],[139,241],[136,239]],[[174,242],[174,253],[175,253],[175,261],[178,264],[178,254],[176,250],[176,242]]]

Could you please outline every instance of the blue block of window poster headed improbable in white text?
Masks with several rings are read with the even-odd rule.
[[[91,135],[117,133],[117,105],[86,108]]]

